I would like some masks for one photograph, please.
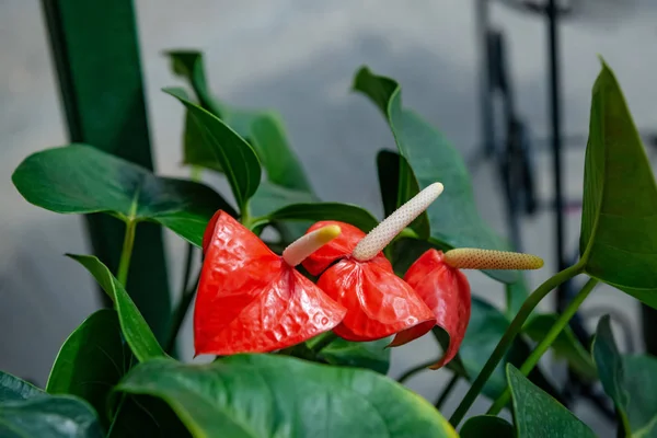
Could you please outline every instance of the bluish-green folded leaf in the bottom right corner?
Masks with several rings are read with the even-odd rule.
[[[607,395],[613,400],[627,437],[657,434],[657,358],[621,355],[609,315],[598,322],[592,355]]]

